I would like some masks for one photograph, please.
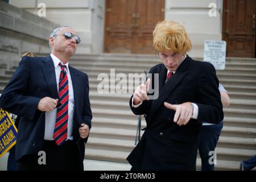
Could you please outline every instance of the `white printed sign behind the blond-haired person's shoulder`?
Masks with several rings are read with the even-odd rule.
[[[226,42],[223,40],[205,40],[204,61],[212,63],[215,69],[224,70],[226,63]]]

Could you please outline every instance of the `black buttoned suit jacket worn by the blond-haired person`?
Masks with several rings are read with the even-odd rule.
[[[134,169],[195,170],[201,121],[219,123],[223,119],[216,71],[212,64],[187,56],[166,84],[164,64],[155,65],[149,73],[159,73],[159,97],[143,101],[137,108],[131,106],[131,97],[131,110],[137,115],[144,114],[147,127],[127,160]],[[153,78],[151,82],[155,85]],[[177,125],[173,122],[175,111],[167,109],[164,101],[197,104],[198,119]]]

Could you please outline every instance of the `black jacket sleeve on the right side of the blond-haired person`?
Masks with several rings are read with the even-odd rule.
[[[218,78],[212,64],[205,63],[197,85],[199,102],[198,121],[220,123],[224,114],[222,110]]]

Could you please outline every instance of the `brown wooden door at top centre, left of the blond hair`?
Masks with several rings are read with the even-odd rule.
[[[105,52],[154,53],[152,31],[164,0],[106,0]]]

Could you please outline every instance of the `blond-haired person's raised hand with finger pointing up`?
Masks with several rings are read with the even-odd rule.
[[[150,86],[150,78],[147,79],[146,85],[139,85],[133,93],[133,105],[138,105],[144,100],[148,100],[148,90]]]

